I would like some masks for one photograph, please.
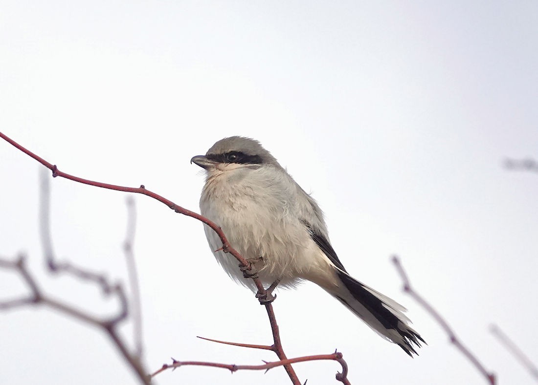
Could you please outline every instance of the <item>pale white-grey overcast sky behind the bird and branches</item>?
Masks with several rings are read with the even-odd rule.
[[[70,174],[148,189],[198,211],[190,165],[215,141],[260,140],[311,192],[348,271],[408,309],[428,342],[410,359],[313,284],[274,303],[288,357],[344,354],[353,384],[485,383],[390,262],[503,384],[532,377],[495,323],[538,362],[538,3],[24,2],[0,5],[0,131]],[[0,256],[25,253],[44,290],[96,314],[91,285],[44,273],[39,169],[0,141]],[[126,279],[126,194],[54,179],[61,260]],[[177,360],[257,364],[264,309],[217,265],[202,225],[136,196],[148,370]],[[0,297],[25,293],[0,271]],[[123,327],[131,339],[131,324]],[[295,366],[336,383],[334,362]],[[283,369],[183,367],[159,384],[287,383]],[[136,383],[93,327],[41,308],[0,313],[0,383]]]

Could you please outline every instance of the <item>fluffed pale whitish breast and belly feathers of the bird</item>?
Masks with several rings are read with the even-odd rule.
[[[281,279],[283,286],[293,286],[300,276],[299,270],[308,268],[308,254],[314,252],[314,244],[294,215],[294,197],[289,196],[286,186],[274,181],[264,186],[245,179],[236,181],[233,187],[216,183],[218,180],[213,182],[204,188],[200,201],[202,215],[222,227],[230,245],[244,258],[264,259],[259,276],[265,284]],[[240,272],[238,261],[230,254],[216,251],[222,242],[213,230],[204,227],[211,251],[226,273],[252,287],[252,281],[244,279]]]

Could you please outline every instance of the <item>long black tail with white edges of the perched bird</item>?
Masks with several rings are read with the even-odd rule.
[[[345,272],[338,270],[337,274],[344,287],[331,294],[381,337],[398,344],[411,357],[411,353],[418,355],[413,344],[420,347],[419,340],[426,341],[409,326],[410,320],[404,315],[407,309]]]

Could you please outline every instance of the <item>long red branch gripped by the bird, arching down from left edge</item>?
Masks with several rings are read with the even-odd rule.
[[[8,141],[11,145],[15,146],[20,151],[22,151],[25,154],[31,156],[31,158],[37,160],[39,163],[41,163],[42,165],[44,165],[48,169],[52,170],[52,176],[53,177],[60,176],[60,177],[66,178],[68,180],[72,180],[74,182],[79,182],[79,183],[83,183],[83,184],[89,184],[90,186],[101,187],[101,188],[105,188],[105,189],[109,189],[109,190],[124,191],[126,193],[135,193],[135,194],[147,195],[149,197],[157,199],[157,201],[159,201],[161,203],[164,203],[165,205],[167,205],[169,208],[171,208],[172,210],[174,210],[177,213],[180,213],[180,214],[195,218],[197,220],[200,220],[201,222],[203,222],[206,225],[208,225],[209,227],[211,227],[211,229],[213,229],[217,233],[218,237],[222,241],[222,245],[223,245],[222,250],[225,253],[230,253],[231,255],[233,255],[241,263],[241,265],[244,268],[246,268],[246,270],[250,270],[250,268],[251,268],[250,263],[247,260],[245,260],[239,254],[239,252],[236,251],[236,249],[234,249],[233,247],[230,246],[230,243],[229,243],[228,239],[226,239],[226,236],[224,235],[224,232],[222,231],[221,227],[218,226],[217,224],[215,224],[214,222],[212,222],[211,220],[209,220],[208,218],[203,217],[202,215],[200,215],[200,214],[198,214],[198,213],[196,213],[194,211],[190,211],[190,210],[187,210],[185,208],[182,208],[181,206],[175,204],[174,202],[169,201],[168,199],[166,199],[166,198],[164,198],[164,197],[162,197],[162,196],[160,196],[160,195],[158,195],[156,193],[153,193],[153,191],[147,190],[144,187],[144,185],[141,185],[140,187],[117,186],[116,184],[109,184],[109,183],[91,181],[91,180],[88,180],[88,179],[83,179],[83,178],[78,177],[78,176],[74,176],[74,175],[64,173],[64,172],[60,171],[58,169],[58,167],[56,167],[56,165],[53,165],[52,163],[47,162],[45,159],[43,159],[40,156],[34,154],[29,149],[26,149],[25,147],[19,145],[16,141],[14,141],[11,138],[5,136],[5,134],[3,134],[2,132],[0,132],[0,137],[3,138],[4,140]],[[252,277],[252,280],[254,281],[254,283],[256,284],[256,287],[258,288],[258,293],[263,298],[264,294],[266,293],[266,290],[263,287],[263,284],[261,283],[261,281],[257,277]],[[265,305],[265,308],[267,310],[267,316],[269,317],[269,320],[270,320],[270,323],[271,323],[271,331],[273,333],[274,344],[271,346],[271,350],[273,350],[277,354],[278,358],[280,359],[280,362],[282,362],[279,365],[284,366],[284,368],[286,369],[286,372],[288,373],[288,376],[291,379],[292,383],[294,385],[301,385],[301,382],[299,381],[299,377],[295,374],[295,371],[293,370],[293,367],[291,366],[291,362],[287,361],[286,353],[284,353],[284,349],[282,348],[282,344],[281,344],[281,341],[280,341],[280,334],[279,334],[279,330],[278,330],[278,324],[277,324],[277,320],[276,320],[275,315],[274,315],[273,306],[272,306],[271,303],[264,303],[264,305]],[[279,366],[279,365],[275,365],[275,366]],[[347,374],[347,369],[344,370],[344,372],[341,375],[342,380],[339,380],[339,381],[348,383],[347,382],[348,380],[346,379],[346,374]]]

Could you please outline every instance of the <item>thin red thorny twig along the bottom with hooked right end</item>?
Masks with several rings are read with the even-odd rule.
[[[318,360],[333,360],[338,361],[342,365],[342,373],[336,374],[336,380],[344,383],[344,384],[350,384],[349,380],[347,379],[348,376],[348,365],[344,361],[342,357],[342,353],[335,352],[333,354],[320,354],[320,355],[308,355],[305,357],[297,357],[297,358],[291,358],[291,359],[285,359],[280,361],[274,361],[274,362],[267,362],[264,361],[264,365],[235,365],[235,364],[228,364],[228,363],[217,363],[217,362],[203,362],[203,361],[176,361],[172,359],[172,363],[168,364],[165,363],[162,365],[162,367],[159,370],[156,370],[154,373],[152,373],[152,377],[155,375],[164,372],[167,369],[176,369],[180,366],[208,366],[208,367],[214,367],[214,368],[223,368],[230,370],[231,373],[237,372],[237,370],[265,370],[267,372],[269,369],[272,369],[277,366],[283,366],[283,365],[291,365],[292,363],[297,362],[307,362],[307,361],[318,361]]]

